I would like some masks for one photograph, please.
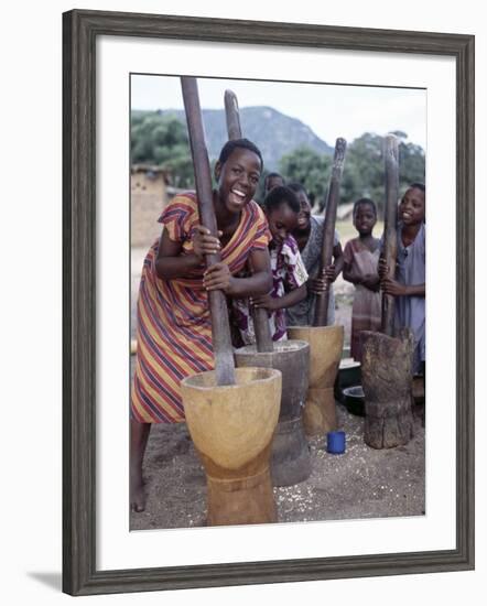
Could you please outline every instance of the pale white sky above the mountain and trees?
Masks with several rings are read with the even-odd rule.
[[[338,137],[351,142],[364,132],[401,130],[408,142],[426,149],[426,90],[353,85],[277,83],[198,78],[203,109],[223,109],[227,88],[240,109],[269,106],[309,126],[334,145]],[[132,75],[132,109],[183,109],[177,76]]]

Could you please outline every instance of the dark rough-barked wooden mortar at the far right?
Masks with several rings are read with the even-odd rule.
[[[413,436],[412,365],[414,338],[361,333],[361,377],[365,393],[364,440],[372,448],[393,448]]]

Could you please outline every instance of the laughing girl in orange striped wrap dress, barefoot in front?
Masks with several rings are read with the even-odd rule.
[[[180,381],[214,368],[207,291],[228,296],[269,292],[270,232],[252,196],[262,156],[247,139],[229,141],[215,165],[213,193],[218,238],[199,225],[194,193],[174,197],[162,213],[159,241],[149,250],[138,299],[137,360],[131,391],[130,500],[143,511],[142,461],[151,423],[184,420]],[[221,262],[205,270],[205,255]],[[236,278],[250,262],[252,275]]]

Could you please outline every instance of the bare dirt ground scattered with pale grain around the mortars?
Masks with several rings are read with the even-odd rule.
[[[145,250],[132,250],[132,335],[137,289]],[[349,343],[353,286],[335,284],[336,323]],[[132,357],[133,366],[133,357]],[[364,419],[337,402],[343,455],[326,453],[325,436],[309,440],[312,474],[301,484],[274,488],[279,522],[304,522],[425,513],[424,428],[405,446],[376,451],[364,442]],[[144,459],[145,511],[131,513],[131,529],[187,528],[205,524],[206,483],[184,423],[153,425]]]

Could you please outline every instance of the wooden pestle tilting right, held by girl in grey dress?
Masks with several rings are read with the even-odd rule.
[[[325,221],[323,224],[323,245],[320,259],[320,273],[332,263],[333,244],[335,240],[336,210],[339,201],[339,186],[345,164],[345,152],[347,142],[338,138],[335,143],[335,154],[333,158],[332,176],[329,178],[328,195],[326,198]],[[328,325],[328,303],[329,303],[329,283],[323,294],[316,295],[316,305],[314,311],[313,326]]]

